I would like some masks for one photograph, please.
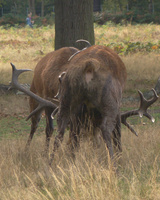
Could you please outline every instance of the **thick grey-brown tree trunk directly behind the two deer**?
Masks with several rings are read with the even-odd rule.
[[[94,44],[93,0],[55,0],[55,49],[83,48],[85,39]]]

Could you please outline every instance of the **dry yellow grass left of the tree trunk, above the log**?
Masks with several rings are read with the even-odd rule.
[[[17,68],[34,69],[39,59],[54,50],[54,27],[10,28],[0,27],[0,83],[11,80],[10,62]],[[30,83],[32,73],[22,75],[22,82]]]

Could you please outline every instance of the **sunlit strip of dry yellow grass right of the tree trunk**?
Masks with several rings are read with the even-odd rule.
[[[103,26],[95,25],[96,42],[101,45],[121,42],[158,43],[160,26],[156,24],[137,24],[128,26],[115,26],[108,23]]]

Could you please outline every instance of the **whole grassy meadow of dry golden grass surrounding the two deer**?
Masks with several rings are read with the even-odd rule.
[[[96,44],[113,48],[127,68],[122,110],[139,106],[137,90],[147,92],[160,76],[160,26],[107,23],[95,25]],[[0,27],[0,84],[11,80],[10,62],[17,68],[34,70],[36,63],[54,50],[54,27]],[[20,76],[31,83],[33,72]],[[160,109],[158,100],[151,110]],[[24,147],[30,131],[28,97],[0,96],[0,200],[159,200],[160,199],[160,114],[156,121],[134,117],[130,121],[139,136],[122,126],[121,157],[117,174],[111,167],[102,141],[82,138],[72,158],[68,133],[51,167],[44,155],[45,118],[42,116],[29,152]],[[53,148],[51,140],[50,152]]]

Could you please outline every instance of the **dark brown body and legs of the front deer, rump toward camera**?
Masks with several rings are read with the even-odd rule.
[[[68,65],[60,86],[59,134],[51,162],[67,124],[71,125],[71,137],[77,145],[77,136],[81,127],[87,126],[87,120],[94,129],[101,130],[113,158],[112,136],[114,145],[121,151],[120,102],[127,77],[124,63],[108,47],[95,45],[75,55]]]

